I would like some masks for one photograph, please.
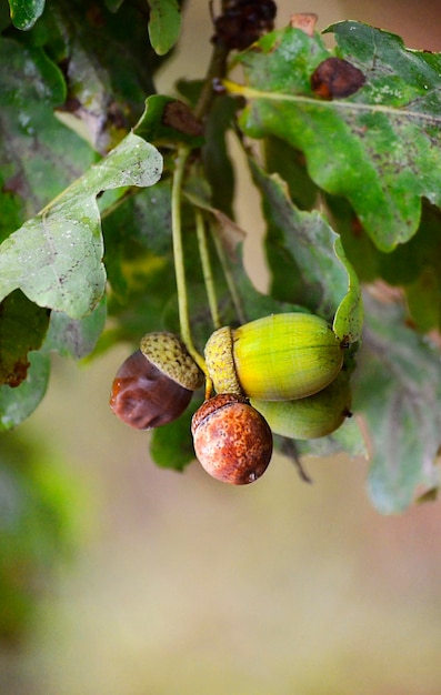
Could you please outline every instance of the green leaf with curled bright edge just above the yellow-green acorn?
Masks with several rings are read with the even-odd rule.
[[[249,165],[267,222],[270,293],[333,320],[337,335],[358,341],[361,292],[338,234],[319,212],[298,210],[280,177],[265,173],[252,159]]]

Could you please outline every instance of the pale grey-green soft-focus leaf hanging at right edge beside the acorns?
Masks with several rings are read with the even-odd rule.
[[[439,486],[440,354],[407,325],[402,306],[370,296],[364,304],[353,410],[365,419],[371,440],[371,501],[392,514]]]

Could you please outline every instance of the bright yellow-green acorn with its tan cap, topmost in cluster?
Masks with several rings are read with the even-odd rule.
[[[324,319],[283,313],[214,331],[204,354],[218,393],[291,401],[312,395],[335,379],[343,346]]]

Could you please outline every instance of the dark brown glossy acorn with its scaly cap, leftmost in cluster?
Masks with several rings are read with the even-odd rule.
[[[204,375],[173,333],[148,333],[120,366],[110,407],[131,427],[150,430],[179,417]]]

